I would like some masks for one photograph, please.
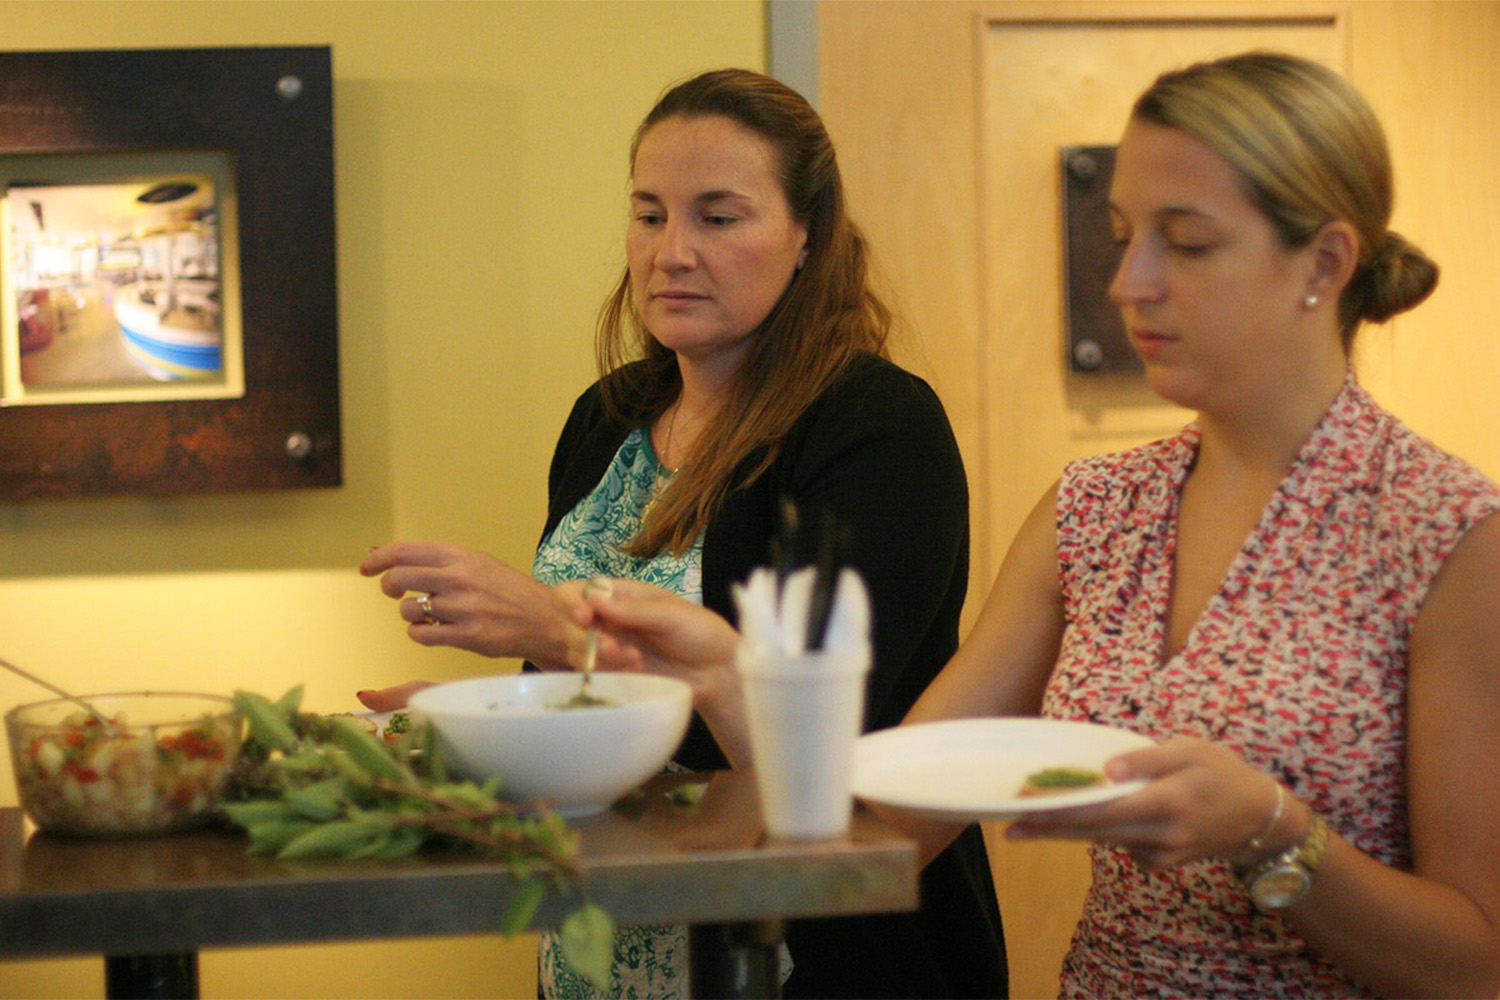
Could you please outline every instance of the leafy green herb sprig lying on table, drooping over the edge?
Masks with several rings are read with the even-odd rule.
[[[428,724],[386,742],[352,718],[302,712],[300,687],[274,702],[236,691],[234,703],[249,735],[224,811],[249,835],[250,855],[404,858],[448,847],[504,858],[520,888],[501,933],[526,930],[549,892],[579,895],[560,928],[562,954],[609,985],[615,924],[579,892],[578,834],[562,817],[506,801],[498,780],[450,778]]]

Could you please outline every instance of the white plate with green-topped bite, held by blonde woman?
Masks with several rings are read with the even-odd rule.
[[[933,819],[1006,820],[1022,813],[1104,802],[1144,786],[1120,781],[1022,798],[1044,768],[1089,768],[1152,741],[1122,729],[1046,718],[960,718],[898,726],[861,736],[854,792]]]

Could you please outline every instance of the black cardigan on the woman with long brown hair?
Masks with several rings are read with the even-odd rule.
[[[573,406],[548,480],[550,532],[598,486],[630,430],[598,384]],[[958,645],[969,573],[969,492],[942,403],[922,379],[862,354],[792,426],[771,468],[734,490],[704,535],[704,606],[735,621],[729,588],[771,562],[780,498],[850,529],[870,589],[874,663],[866,729],[897,724]],[[694,718],[676,760],[728,766]],[[918,913],[792,921],[788,997],[1006,994],[1000,915],[978,828],[922,873]]]

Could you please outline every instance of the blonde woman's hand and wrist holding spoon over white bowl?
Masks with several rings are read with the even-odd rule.
[[[736,768],[750,763],[744,696],[734,658],[740,633],[717,613],[636,580],[608,592],[582,580],[556,588],[558,603],[582,630],[600,628],[602,670],[640,670],[686,681],[693,708]]]

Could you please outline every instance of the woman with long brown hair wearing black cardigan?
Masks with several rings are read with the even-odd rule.
[[[936,394],[886,358],[837,157],[816,111],[747,70],[668,90],[636,132],[627,267],[600,313],[603,372],[549,475],[531,576],[430,543],[362,571],[411,637],[576,669],[584,631],[548,585],[640,580],[724,615],[772,558],[783,501],[849,534],[874,613],[872,727],[894,726],[954,652],[968,585],[968,486]],[[363,693],[402,703],[412,685]],[[702,705],[699,705],[702,708]],[[716,717],[717,718],[717,717]],[[744,763],[694,720],[676,765]],[[1004,996],[999,910],[978,829],[924,874],[918,913],[790,921],[794,997]],[[609,996],[682,996],[682,928],[621,928]],[[543,942],[548,996],[592,987]]]

